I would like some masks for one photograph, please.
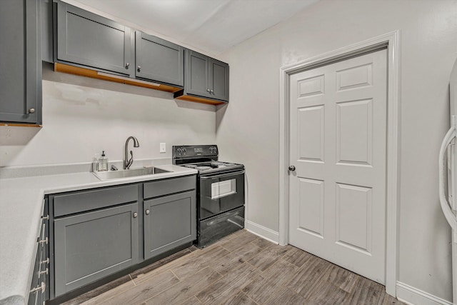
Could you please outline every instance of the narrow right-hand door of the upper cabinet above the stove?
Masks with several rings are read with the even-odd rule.
[[[211,97],[229,101],[229,65],[222,61],[211,59],[209,68]]]

